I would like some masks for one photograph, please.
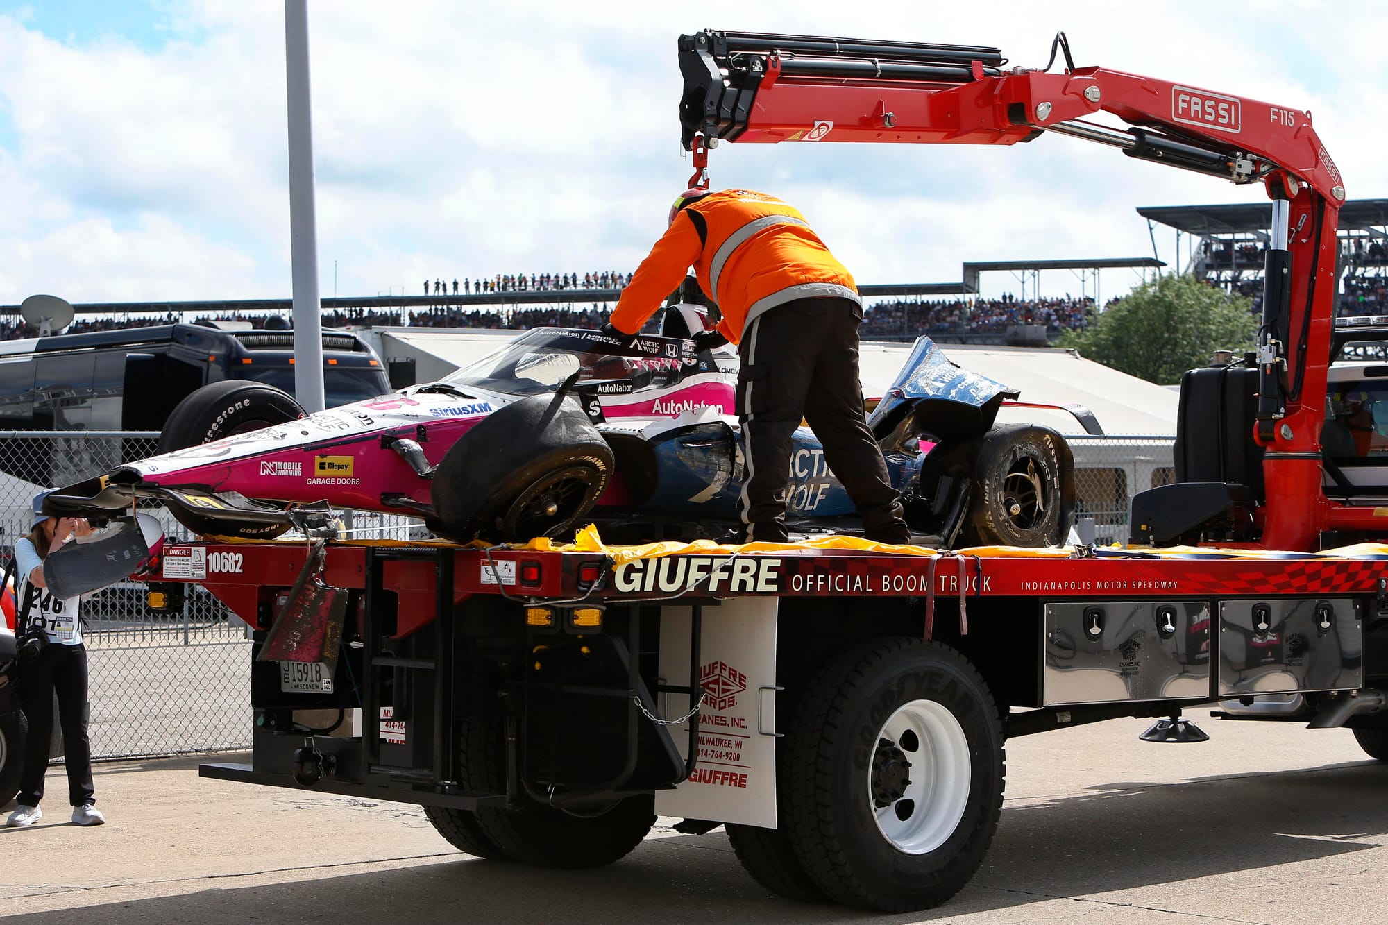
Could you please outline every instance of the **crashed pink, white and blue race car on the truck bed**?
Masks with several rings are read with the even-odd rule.
[[[49,496],[53,514],[117,518],[160,501],[201,535],[265,539],[329,524],[335,508],[422,517],[457,542],[718,536],[737,522],[743,454],[737,357],[695,350],[690,306],[662,336],[625,344],[541,328],[443,381],[304,415],[266,385],[189,396],[160,454]],[[1065,439],[994,418],[1017,393],[920,338],[869,417],[906,521],[941,546],[1060,542],[1074,507]],[[795,435],[787,525],[854,532],[847,492],[808,428]]]

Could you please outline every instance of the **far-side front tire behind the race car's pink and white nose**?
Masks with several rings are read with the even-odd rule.
[[[172,453],[301,417],[304,408],[283,389],[243,379],[214,382],[178,403],[164,424],[155,451]],[[272,539],[289,529],[286,524],[235,524],[198,514],[176,501],[165,504],[179,524],[198,535]]]

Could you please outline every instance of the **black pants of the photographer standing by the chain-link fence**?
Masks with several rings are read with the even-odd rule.
[[[58,694],[58,718],[62,725],[62,761],[68,769],[68,800],[72,806],[96,803],[92,799],[92,744],[87,742],[86,649],[49,643],[43,650],[19,662],[19,703],[29,719],[24,740],[24,769],[19,774],[22,806],[39,806],[43,799],[43,774],[49,767],[49,743],[53,739],[53,693]],[[0,794],[8,797],[10,794]]]

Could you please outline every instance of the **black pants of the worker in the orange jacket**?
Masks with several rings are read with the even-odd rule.
[[[795,428],[809,422],[824,461],[858,507],[869,539],[905,543],[901,497],[863,419],[858,381],[862,308],[847,299],[797,299],[743,332],[737,415],[747,478],[738,499],[747,539],[784,542]]]

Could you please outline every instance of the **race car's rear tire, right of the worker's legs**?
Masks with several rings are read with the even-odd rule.
[[[960,546],[1053,546],[1074,510],[1074,462],[1065,438],[1031,424],[988,431],[973,465]]]

